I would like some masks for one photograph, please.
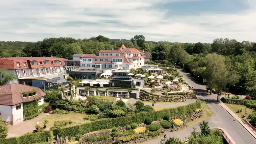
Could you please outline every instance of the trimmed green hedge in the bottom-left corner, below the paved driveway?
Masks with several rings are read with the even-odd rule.
[[[44,131],[39,133],[32,133],[20,137],[13,137],[8,139],[0,139],[0,144],[34,144],[47,142],[47,138],[53,139],[53,133]]]

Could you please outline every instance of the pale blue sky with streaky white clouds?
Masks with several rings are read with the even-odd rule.
[[[256,41],[256,0],[1,0],[0,41],[103,35],[148,41]]]

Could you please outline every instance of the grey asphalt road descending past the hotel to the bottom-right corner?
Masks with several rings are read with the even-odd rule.
[[[225,129],[237,144],[256,144],[256,139],[217,103],[217,95],[207,95],[206,86],[194,81],[194,78],[182,68],[177,67],[177,71],[200,94],[197,95],[197,99],[205,101],[214,112],[214,115],[207,119],[210,127],[221,127]]]

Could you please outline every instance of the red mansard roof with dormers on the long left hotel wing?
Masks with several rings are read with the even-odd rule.
[[[48,60],[49,64],[44,64],[44,61]],[[55,60],[61,61],[61,64],[55,64]],[[26,69],[26,68],[40,68],[40,67],[53,67],[53,66],[65,66],[64,58],[56,58],[56,57],[10,57],[10,58],[0,58],[0,68],[1,69]],[[37,65],[31,65],[31,61],[36,61]],[[51,65],[51,61],[53,61],[53,66]],[[17,62],[19,62],[20,67],[17,66]],[[24,66],[24,62],[26,62],[27,67]],[[40,66],[39,62],[42,62],[42,66]]]

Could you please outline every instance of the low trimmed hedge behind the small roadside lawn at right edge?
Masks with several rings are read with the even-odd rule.
[[[232,98],[222,97],[221,101],[227,104],[244,105],[248,108],[256,109],[256,100],[232,99]]]

